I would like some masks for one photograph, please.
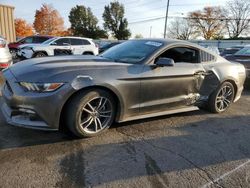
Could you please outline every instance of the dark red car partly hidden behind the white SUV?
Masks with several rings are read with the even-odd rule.
[[[9,43],[10,53],[13,58],[17,58],[17,50],[23,44],[40,44],[52,38],[52,36],[34,35],[19,39],[17,42]]]

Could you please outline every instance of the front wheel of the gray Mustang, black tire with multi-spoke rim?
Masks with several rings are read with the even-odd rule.
[[[106,105],[101,104],[101,100],[106,99],[106,103],[103,101],[103,104],[105,103]],[[89,104],[95,110],[91,110]],[[84,109],[91,111],[92,114]],[[96,136],[112,125],[115,112],[115,101],[110,93],[100,89],[85,91],[76,95],[69,102],[66,110],[66,125],[77,137]],[[103,117],[104,115],[106,117]]]

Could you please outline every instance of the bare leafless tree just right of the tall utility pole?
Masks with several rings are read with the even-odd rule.
[[[170,22],[168,37],[180,40],[189,40],[194,34],[190,20],[186,18],[175,18]]]

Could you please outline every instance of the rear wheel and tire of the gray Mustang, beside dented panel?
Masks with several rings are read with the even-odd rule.
[[[213,113],[225,112],[233,103],[234,86],[230,82],[222,83],[209,97],[208,110]]]

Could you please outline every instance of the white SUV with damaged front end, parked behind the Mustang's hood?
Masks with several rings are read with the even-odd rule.
[[[21,58],[56,55],[97,55],[99,49],[89,38],[54,37],[41,44],[24,44],[17,55]]]

